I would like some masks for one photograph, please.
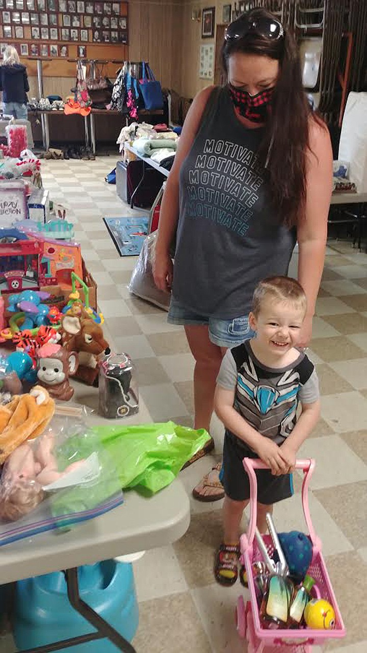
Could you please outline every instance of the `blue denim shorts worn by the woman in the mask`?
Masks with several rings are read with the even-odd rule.
[[[205,317],[182,306],[173,296],[170,300],[168,322],[171,325],[207,325],[209,338],[218,347],[231,349],[249,338],[254,338],[255,332],[249,326],[248,315],[235,317],[231,320],[220,320],[217,317]]]

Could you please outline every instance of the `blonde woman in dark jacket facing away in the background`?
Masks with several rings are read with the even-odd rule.
[[[20,63],[18,52],[7,46],[0,66],[0,91],[3,91],[3,111],[18,120],[27,119],[27,91],[29,91],[27,70]]]

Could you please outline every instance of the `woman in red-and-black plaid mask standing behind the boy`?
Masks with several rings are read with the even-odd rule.
[[[328,130],[304,94],[293,37],[254,9],[229,25],[222,56],[227,86],[200,91],[185,119],[154,268],[157,287],[172,285],[168,321],[185,327],[195,358],[195,428],[206,429],[223,354],[251,337],[253,290],[287,274],[296,240],[308,299],[302,346],[310,341],[332,191]],[[218,471],[197,486],[197,498],[223,496]]]

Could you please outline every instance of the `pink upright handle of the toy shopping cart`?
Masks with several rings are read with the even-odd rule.
[[[247,536],[242,535],[242,538],[246,537],[247,547],[252,547],[253,538],[255,537],[255,528],[256,528],[256,518],[257,518],[257,478],[255,470],[268,470],[268,466],[264,464],[262,460],[257,460],[253,458],[244,458],[244,468],[249,475],[249,486],[250,486],[250,510],[251,517],[249,521],[249,528],[247,530]],[[304,479],[302,483],[302,508],[304,512],[304,518],[306,520],[308,532],[310,534],[310,539],[313,545],[313,552],[319,552],[321,550],[321,541],[315,533],[315,529],[312,525],[310,508],[308,506],[308,486],[310,485],[310,479],[313,470],[315,469],[315,460],[311,458],[308,460],[296,460],[295,464],[296,470],[304,471]]]

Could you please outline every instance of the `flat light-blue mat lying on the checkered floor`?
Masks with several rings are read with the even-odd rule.
[[[144,215],[136,217],[104,217],[104,224],[120,256],[136,256],[148,234],[148,220]]]

